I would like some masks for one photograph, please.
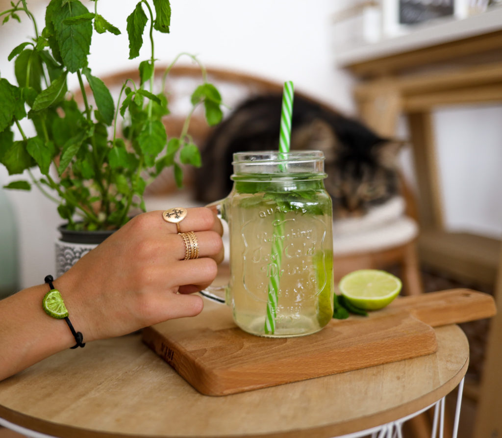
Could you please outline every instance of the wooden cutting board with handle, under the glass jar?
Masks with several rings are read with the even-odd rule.
[[[490,295],[451,289],[398,297],[313,335],[270,339],[241,331],[227,306],[204,299],[201,314],[147,327],[143,342],[202,394],[226,395],[431,354],[432,327],[495,311]]]

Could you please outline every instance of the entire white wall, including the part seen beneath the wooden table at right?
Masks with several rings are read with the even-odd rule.
[[[130,68],[139,62],[127,60],[126,18],[136,3],[98,3],[98,12],[123,34],[101,35],[93,40],[90,66],[94,74]],[[90,2],[84,4],[92,7]],[[171,4],[171,34],[156,37],[161,63],[167,64],[187,51],[197,54],[207,66],[233,68],[278,81],[293,80],[297,90],[353,112],[352,80],[335,67],[330,20],[331,14],[351,4],[350,0],[171,0]],[[37,15],[42,27],[43,8]],[[31,27],[9,23],[0,28],[0,73],[9,79],[13,73],[7,56],[18,43],[15,35],[32,35]],[[146,58],[148,50],[144,48],[138,59]],[[502,234],[501,116],[500,107],[444,108],[436,112],[445,216],[452,229],[494,237]],[[406,151],[403,161],[412,178]],[[16,178],[9,177],[0,166],[0,184]],[[8,196],[17,212],[18,230],[22,231],[22,286],[40,283],[46,274],[54,272],[53,241],[59,217],[54,205],[36,191],[9,191]]]

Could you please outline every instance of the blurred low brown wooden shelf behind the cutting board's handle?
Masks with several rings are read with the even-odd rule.
[[[426,230],[418,238],[421,262],[461,281],[495,284],[500,241],[469,233]]]

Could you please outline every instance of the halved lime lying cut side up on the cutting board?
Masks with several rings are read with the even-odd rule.
[[[342,295],[364,310],[385,307],[401,291],[401,280],[385,271],[361,269],[345,275],[338,284]]]

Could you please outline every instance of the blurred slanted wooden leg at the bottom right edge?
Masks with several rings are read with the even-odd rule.
[[[474,438],[498,438],[502,436],[502,254],[498,266],[495,287],[498,313],[491,319],[486,359],[481,378],[481,389],[476,409]]]

